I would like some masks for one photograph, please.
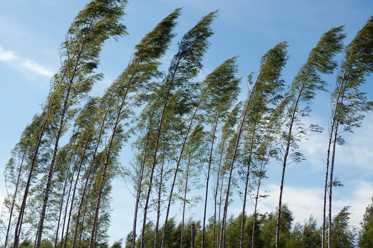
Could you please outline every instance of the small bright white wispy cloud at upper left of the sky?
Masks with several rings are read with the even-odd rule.
[[[28,72],[46,77],[51,77],[53,75],[53,72],[50,70],[50,68],[32,61],[31,59],[23,58],[22,56],[19,56],[16,51],[5,50],[1,46],[0,61],[9,64],[22,73]]]

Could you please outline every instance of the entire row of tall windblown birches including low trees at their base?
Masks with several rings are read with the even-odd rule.
[[[352,131],[373,107],[359,91],[373,72],[373,17],[346,47],[343,26],[324,33],[287,90],[281,76],[288,45],[280,42],[263,55],[259,70],[248,76],[251,89],[247,99],[238,102],[242,78],[236,77],[237,57],[224,61],[203,81],[194,81],[203,68],[213,35],[210,25],[218,11],[185,33],[168,71],[159,70],[160,59],[175,37],[181,14],[176,9],[135,46],[128,65],[102,97],[86,97],[103,78],[94,71],[103,42],[126,35],[126,27],[119,23],[126,3],[93,0],[71,24],[60,48],[62,67],[51,79],[46,103],[22,133],[4,171],[8,197],[2,212],[3,247],[106,247],[111,181],[117,176],[131,183],[135,198],[127,247],[190,247],[192,220],[185,211],[200,200],[204,211],[199,213],[201,222],[195,222],[195,233],[202,248],[310,247],[312,242],[323,248],[327,242],[331,248],[345,244],[346,235],[350,237],[341,247],[353,247],[356,231],[346,231],[348,207],[334,219],[331,215],[332,186],[341,184],[333,178],[333,166],[335,146],[344,142],[338,126]],[[345,56],[341,65],[334,61],[340,52]],[[285,168],[304,159],[298,145],[308,132],[322,131],[315,124],[305,126],[303,120],[311,113],[317,91],[327,90],[322,75],[337,68],[323,225],[316,228],[311,216],[291,229],[292,214],[282,204]],[[141,110],[133,118],[135,109]],[[61,146],[59,140],[67,133],[70,139]],[[136,137],[135,155],[131,166],[122,166],[120,149],[131,136]],[[257,209],[263,197],[260,186],[266,166],[274,160],[283,166],[279,205],[276,212],[262,215]],[[244,185],[239,192],[242,213],[229,218],[233,189],[240,183]],[[195,189],[206,193],[195,196]],[[248,196],[254,206],[250,216]],[[176,227],[169,212],[179,202],[182,218]],[[214,209],[213,216],[207,216],[208,208]],[[156,213],[155,221],[149,219],[150,211]],[[368,210],[366,216],[361,247],[372,242],[366,234],[372,232]]]

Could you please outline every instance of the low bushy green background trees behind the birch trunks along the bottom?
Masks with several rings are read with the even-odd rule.
[[[344,207],[336,216],[333,218],[332,223],[332,247],[356,247],[355,241],[359,239],[359,233],[356,227],[348,224],[350,219],[350,213],[348,212],[349,206]],[[276,222],[278,212],[274,211],[267,213],[266,215],[260,215],[256,218],[254,239],[251,237],[254,224],[254,215],[244,215],[245,225],[245,241],[244,247],[251,247],[254,243],[254,247],[272,248],[276,245]],[[280,246],[286,248],[316,248],[320,247],[322,238],[322,226],[317,226],[317,220],[313,215],[305,219],[303,223],[293,223],[294,217],[291,210],[285,204],[283,205],[282,215],[280,218]],[[195,223],[195,246],[200,247],[202,244],[202,223],[189,218],[185,223],[184,230],[184,247],[191,247],[192,241],[192,223]],[[227,248],[239,247],[240,235],[242,225],[242,214],[237,217],[230,216],[226,222],[225,232],[225,244]],[[214,238],[213,232],[213,218],[206,226],[205,231],[205,247],[213,247],[212,241]],[[155,229],[151,223],[148,223],[145,235],[145,246],[153,247]],[[164,227],[162,226],[161,229]],[[181,236],[183,235],[183,223],[179,224],[175,219],[170,219],[169,231],[166,235],[166,247],[180,247]],[[216,236],[217,233],[215,233]],[[360,236],[359,242],[363,244],[362,237]],[[136,247],[140,246],[140,238],[136,241]],[[131,247],[132,233],[129,233],[126,240],[125,248]],[[369,247],[361,245],[361,247]]]

